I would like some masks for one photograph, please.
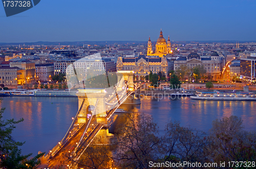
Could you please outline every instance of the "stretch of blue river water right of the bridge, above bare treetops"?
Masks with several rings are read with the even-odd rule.
[[[151,114],[163,131],[168,120],[177,120],[182,126],[190,126],[207,132],[217,118],[237,115],[244,120],[246,130],[256,130],[256,111],[253,101],[203,101],[186,99],[141,100],[141,105],[127,106],[134,112]]]

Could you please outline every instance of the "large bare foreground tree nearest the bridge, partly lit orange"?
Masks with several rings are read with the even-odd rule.
[[[114,157],[120,168],[150,168],[148,162],[159,159],[158,127],[149,115],[129,113],[117,129]]]

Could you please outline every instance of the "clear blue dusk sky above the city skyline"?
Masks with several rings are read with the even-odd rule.
[[[0,42],[256,40],[256,1],[41,0],[6,17],[0,5]]]

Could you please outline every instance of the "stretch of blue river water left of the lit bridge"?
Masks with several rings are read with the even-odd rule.
[[[77,98],[4,97],[0,107],[6,107],[3,119],[24,118],[13,130],[14,139],[26,141],[23,154],[49,151],[69,129],[78,110]]]

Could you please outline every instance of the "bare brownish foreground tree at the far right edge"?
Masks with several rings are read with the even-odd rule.
[[[233,115],[212,122],[207,151],[213,161],[255,161],[256,133],[243,128],[242,118]]]

